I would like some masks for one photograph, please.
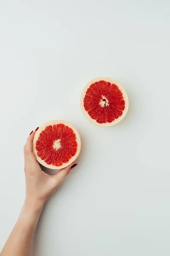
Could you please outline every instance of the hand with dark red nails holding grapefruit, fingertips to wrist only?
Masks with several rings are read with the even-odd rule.
[[[35,130],[35,132],[38,128]],[[51,176],[43,172],[33,153],[33,139],[35,132],[31,132],[24,146],[26,200],[30,207],[43,207],[45,201],[54,193],[68,173],[77,164],[61,169],[56,175]]]

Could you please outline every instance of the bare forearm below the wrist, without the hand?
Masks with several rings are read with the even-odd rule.
[[[42,211],[42,205],[32,206],[25,202],[17,223],[0,256],[30,256],[34,231]]]

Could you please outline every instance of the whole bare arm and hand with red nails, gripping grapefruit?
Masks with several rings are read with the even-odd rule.
[[[32,150],[35,132],[31,132],[24,146],[25,202],[0,256],[31,256],[34,231],[45,202],[59,187],[71,169],[77,165],[72,163],[54,176],[43,172]]]

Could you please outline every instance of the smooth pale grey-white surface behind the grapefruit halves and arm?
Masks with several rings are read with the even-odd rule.
[[[168,0],[0,1],[0,250],[25,197],[26,138],[65,119],[82,151],[44,207],[35,256],[170,255],[169,72]],[[129,96],[113,127],[79,106],[98,76]]]

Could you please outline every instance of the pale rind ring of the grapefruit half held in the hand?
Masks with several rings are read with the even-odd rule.
[[[40,136],[40,133],[48,126],[48,125],[57,125],[57,124],[63,124],[63,125],[67,125],[68,127],[70,127],[74,133],[76,134],[76,141],[77,141],[77,152],[76,154],[74,155],[74,157],[71,157],[71,159],[67,162],[67,163],[64,163],[62,166],[54,166],[54,165],[49,165],[47,163],[45,163],[44,160],[42,160],[40,157],[38,157],[37,155],[37,150],[36,150],[36,142],[38,140],[38,137]],[[71,125],[71,123],[69,122],[66,122],[66,121],[63,121],[63,120],[53,120],[53,121],[49,121],[49,122],[46,122],[45,124],[41,125],[40,128],[38,129],[38,131],[36,131],[35,135],[34,135],[34,140],[33,140],[33,152],[35,154],[35,157],[37,159],[37,161],[42,164],[42,166],[45,166],[49,169],[55,169],[55,170],[59,170],[59,169],[63,169],[67,166],[69,166],[71,163],[73,163],[76,158],[79,156],[79,152],[80,152],[80,149],[81,149],[81,140],[80,140],[80,136],[79,136],[79,133],[77,131],[77,129]]]

